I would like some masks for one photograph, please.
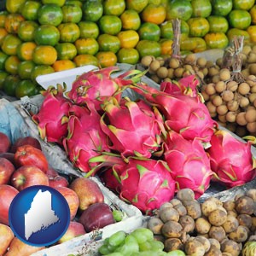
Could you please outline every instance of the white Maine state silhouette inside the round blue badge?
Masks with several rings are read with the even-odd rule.
[[[30,209],[24,214],[26,240],[33,233],[46,230],[51,224],[59,221],[51,205],[51,194],[49,191],[38,190],[34,196]]]

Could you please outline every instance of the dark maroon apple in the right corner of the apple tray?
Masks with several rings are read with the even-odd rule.
[[[79,223],[84,225],[86,232],[102,229],[114,222],[113,212],[108,204],[104,202],[90,205],[79,218]]]

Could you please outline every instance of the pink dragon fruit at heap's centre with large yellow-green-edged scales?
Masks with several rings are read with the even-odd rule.
[[[109,137],[108,147],[122,156],[151,157],[160,149],[163,119],[157,109],[154,112],[143,101],[125,99],[119,103],[113,98],[105,102],[101,127]]]

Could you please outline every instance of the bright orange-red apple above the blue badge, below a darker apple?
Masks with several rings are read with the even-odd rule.
[[[31,145],[24,145],[17,148],[15,152],[15,166],[37,166],[43,172],[47,172],[48,160],[44,153]]]

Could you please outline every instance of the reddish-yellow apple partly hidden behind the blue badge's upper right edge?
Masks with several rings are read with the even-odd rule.
[[[67,187],[57,187],[55,189],[59,191],[67,200],[67,204],[70,209],[70,219],[73,220],[79,209],[79,196],[75,191]]]

